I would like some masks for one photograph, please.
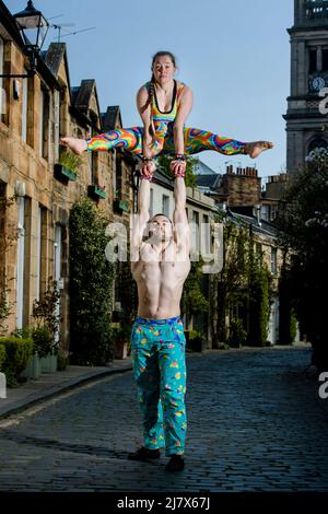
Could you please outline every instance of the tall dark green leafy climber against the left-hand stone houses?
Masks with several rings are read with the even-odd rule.
[[[70,212],[70,361],[104,365],[113,358],[110,317],[114,265],[106,259],[109,241],[104,219],[89,198]]]

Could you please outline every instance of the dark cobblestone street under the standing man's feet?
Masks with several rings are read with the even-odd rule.
[[[127,459],[141,443],[131,372],[0,421],[0,489],[327,491],[328,406],[304,373],[309,350],[245,349],[187,359],[186,469]]]

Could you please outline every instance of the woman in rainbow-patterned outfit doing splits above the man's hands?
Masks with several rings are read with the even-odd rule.
[[[186,154],[212,150],[224,155],[244,154],[256,159],[263,150],[273,148],[269,141],[242,142],[216,133],[185,127],[192,108],[192,91],[174,79],[176,60],[169,51],[157,51],[152,60],[152,78],[140,87],[137,106],[143,127],[121,128],[93,138],[61,138],[60,143],[74,153],[108,151],[113,148],[142,159],[141,174],[152,178],[153,159],[160,154],[174,155],[174,174],[185,175]]]

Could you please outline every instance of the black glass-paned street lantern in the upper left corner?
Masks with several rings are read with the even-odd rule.
[[[30,70],[25,74],[1,74],[1,78],[27,78],[33,77],[36,71],[37,57],[46,38],[49,23],[40,11],[35,9],[33,1],[28,0],[24,11],[13,14],[24,42],[24,50],[27,54]]]

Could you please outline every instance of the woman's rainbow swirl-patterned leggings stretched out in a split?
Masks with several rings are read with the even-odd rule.
[[[154,154],[175,154],[173,122],[159,127]],[[166,124],[165,124],[166,125]],[[194,154],[203,150],[213,150],[224,155],[245,154],[246,143],[235,139],[223,138],[208,130],[184,127],[185,152]],[[143,128],[115,129],[86,140],[89,151],[108,151],[120,148],[136,155],[142,154]]]

